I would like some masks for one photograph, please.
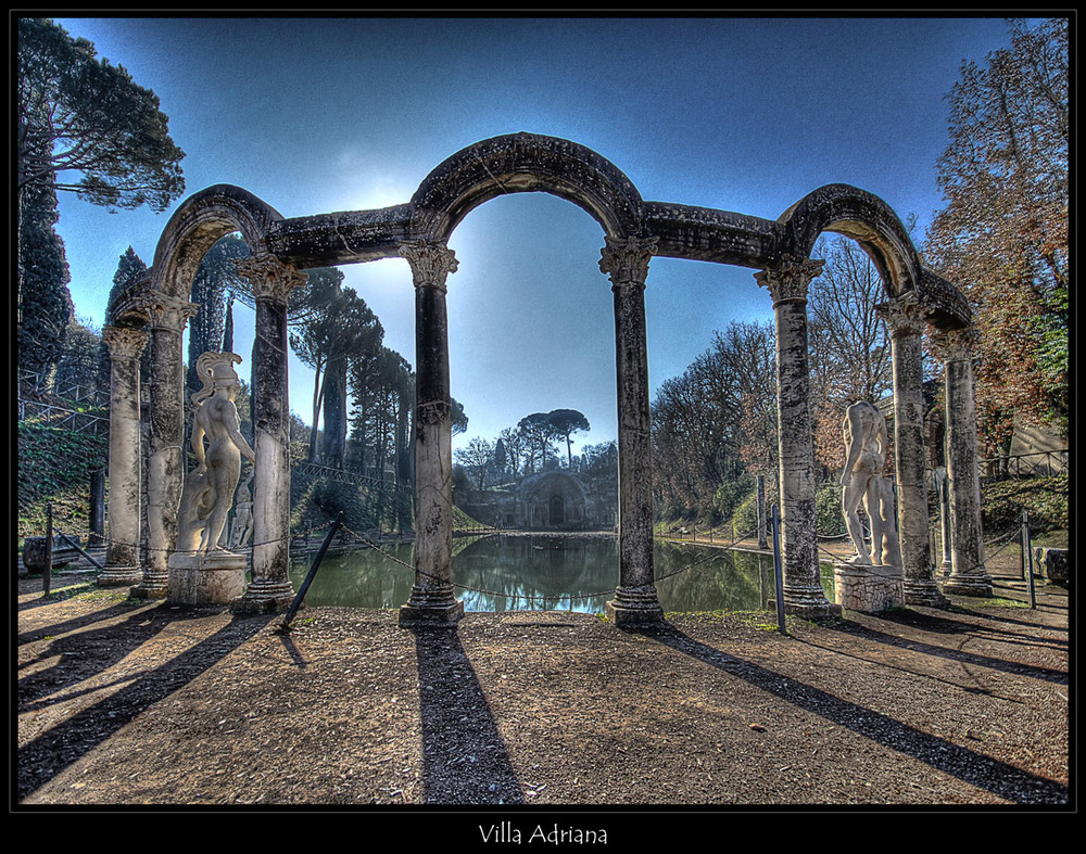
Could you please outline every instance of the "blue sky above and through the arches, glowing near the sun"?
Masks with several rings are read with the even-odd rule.
[[[945,99],[962,61],[1009,42],[994,17],[56,18],[154,90],[187,153],[186,196],[233,183],[286,217],[406,202],[439,163],[490,137],[565,137],[611,161],[646,200],[775,219],[816,188],[881,196],[923,232],[942,200]],[[77,315],[100,324],[119,256],[148,264],[169,214],[110,214],[62,193]],[[611,294],[603,233],[531,193],[457,227],[449,279],[453,396],[467,433],[580,409],[615,438]],[[407,264],[342,268],[414,364]],[[753,270],[654,259],[649,381],[681,373],[729,322],[769,319]],[[236,349],[248,364],[251,319]],[[244,368],[241,369],[244,374]],[[291,365],[310,420],[312,373]]]

